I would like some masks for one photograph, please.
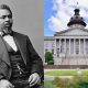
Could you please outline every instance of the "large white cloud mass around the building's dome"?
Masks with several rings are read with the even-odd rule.
[[[53,10],[56,13],[48,19],[48,26],[53,31],[58,32],[67,29],[67,23],[74,15],[75,8],[80,9],[81,16],[88,18],[88,0],[53,0]]]

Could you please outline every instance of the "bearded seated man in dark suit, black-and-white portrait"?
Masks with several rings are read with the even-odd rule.
[[[43,63],[28,35],[12,31],[12,11],[0,6],[0,88],[41,88]]]

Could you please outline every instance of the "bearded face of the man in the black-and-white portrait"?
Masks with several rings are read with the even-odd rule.
[[[11,30],[13,20],[9,10],[0,9],[0,31],[2,30]]]

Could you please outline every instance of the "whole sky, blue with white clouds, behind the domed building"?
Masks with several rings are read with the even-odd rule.
[[[44,35],[66,30],[76,8],[80,10],[88,29],[88,0],[44,0]]]

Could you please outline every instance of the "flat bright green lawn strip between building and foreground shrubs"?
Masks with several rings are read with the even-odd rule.
[[[77,70],[50,70],[44,73],[48,76],[77,76]],[[88,70],[81,70],[82,76],[88,76]]]

